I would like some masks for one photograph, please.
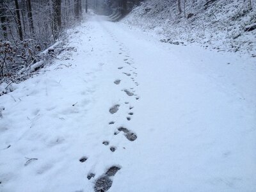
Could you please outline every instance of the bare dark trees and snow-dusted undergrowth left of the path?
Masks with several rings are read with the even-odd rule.
[[[81,0],[0,1],[0,84],[28,79],[65,50],[61,45],[67,29],[82,19],[81,3]],[[0,95],[8,90],[4,89]]]

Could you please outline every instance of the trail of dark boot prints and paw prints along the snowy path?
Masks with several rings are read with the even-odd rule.
[[[119,44],[120,47],[122,47],[122,44]],[[124,63],[127,65],[127,67],[132,68],[130,70],[130,72],[122,72],[122,70],[124,70],[125,67],[118,67],[118,70],[120,70],[122,72],[122,74],[124,74],[124,76],[130,77],[131,81],[134,83],[135,86],[138,86],[139,84],[136,82],[135,77],[137,77],[137,73],[134,71],[137,68],[136,67],[132,67],[132,60],[129,58],[128,55],[124,54],[124,49],[120,48],[119,54],[120,56],[124,55]],[[116,86],[118,86],[119,84],[122,83],[121,79],[115,79],[115,81],[113,82],[114,84],[116,84]],[[138,95],[135,94],[134,88],[126,88],[124,90],[122,90],[122,92],[124,92],[127,97],[134,97],[135,100],[139,100],[140,97]],[[125,101],[124,104],[129,104],[129,102]],[[121,104],[115,104],[113,106],[111,106],[111,108],[109,108],[109,113],[111,115],[114,115],[115,113],[118,113],[118,110],[120,108]],[[132,120],[132,115],[134,115],[134,113],[132,112],[132,109],[134,108],[134,106],[129,106],[129,110],[130,112],[127,114],[127,116],[125,116],[127,122]],[[124,119],[125,119],[124,118]],[[115,124],[114,121],[110,121],[109,126],[113,126]],[[127,129],[126,127],[117,127],[116,131],[113,132],[114,135],[117,134],[124,134],[124,138],[126,138],[129,141],[135,141],[137,139],[137,135],[132,132],[131,129]],[[102,141],[102,145],[105,145],[106,147],[109,146],[109,150],[111,152],[115,152],[116,150],[118,150],[118,148],[116,148],[115,146],[111,146],[110,145],[110,141],[105,140]],[[79,159],[79,161],[81,163],[86,162],[88,158],[83,156]],[[95,180],[94,182],[94,191],[95,192],[104,192],[104,191],[108,191],[112,184],[113,184],[113,177],[115,176],[115,174],[118,172],[118,170],[120,170],[120,166],[111,166],[110,168],[108,168],[108,170],[106,171],[106,173],[104,173],[103,175],[101,175],[97,180]],[[87,175],[87,179],[93,179],[95,177],[95,173],[88,173]]]

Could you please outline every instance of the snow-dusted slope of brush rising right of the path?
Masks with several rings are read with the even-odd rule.
[[[244,31],[256,23],[256,1],[249,10],[248,2],[241,0],[177,1],[146,0],[135,8],[124,22],[161,35],[163,42],[174,44],[198,43],[207,49],[241,51],[256,56],[256,29]],[[209,2],[209,3],[205,3]]]

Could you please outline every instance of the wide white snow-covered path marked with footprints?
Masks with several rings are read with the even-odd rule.
[[[102,17],[70,38],[0,97],[0,191],[256,191],[252,58]]]

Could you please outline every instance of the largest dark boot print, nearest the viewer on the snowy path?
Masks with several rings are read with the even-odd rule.
[[[94,191],[95,192],[108,191],[108,189],[110,189],[113,184],[111,177],[115,176],[118,170],[120,170],[120,167],[111,166],[111,168],[109,168],[104,175],[102,175],[101,177],[99,177],[99,179],[97,179],[97,181],[95,182]]]

